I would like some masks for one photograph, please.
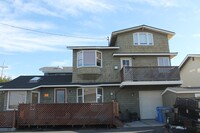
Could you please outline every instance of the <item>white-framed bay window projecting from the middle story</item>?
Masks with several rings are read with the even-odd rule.
[[[83,50],[77,53],[77,67],[101,67],[102,53],[97,50]]]

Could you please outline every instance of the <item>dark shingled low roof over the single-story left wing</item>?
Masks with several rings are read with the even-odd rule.
[[[31,79],[38,79],[32,82]],[[102,87],[102,86],[120,86],[119,82],[102,83],[72,83],[72,74],[66,75],[44,75],[44,76],[19,76],[16,79],[5,83],[0,87],[4,90],[34,90],[42,87]]]

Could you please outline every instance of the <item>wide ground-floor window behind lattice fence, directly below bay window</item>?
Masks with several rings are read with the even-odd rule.
[[[78,103],[102,103],[103,89],[102,88],[78,88],[77,102]]]

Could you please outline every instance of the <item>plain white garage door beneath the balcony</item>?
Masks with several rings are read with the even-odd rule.
[[[156,107],[162,106],[162,91],[139,91],[141,119],[155,119]]]

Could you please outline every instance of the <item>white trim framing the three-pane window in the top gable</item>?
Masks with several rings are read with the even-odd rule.
[[[146,37],[147,37],[147,44],[146,45],[140,43],[140,34],[146,34]],[[150,44],[150,42],[149,42],[149,34],[151,34],[151,36],[152,36],[152,44]],[[137,45],[134,43],[134,35],[137,35],[137,39],[138,39],[138,44]],[[149,32],[136,32],[136,33],[133,33],[133,45],[135,45],[135,46],[153,46],[154,45],[153,34],[149,33]]]

